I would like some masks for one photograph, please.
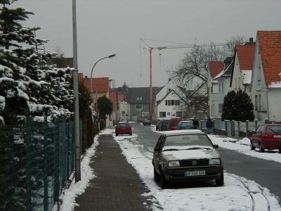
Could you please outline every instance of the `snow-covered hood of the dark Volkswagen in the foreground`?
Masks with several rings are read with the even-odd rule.
[[[164,151],[162,153],[168,160],[212,159],[220,157],[215,149],[190,149],[180,151]]]

